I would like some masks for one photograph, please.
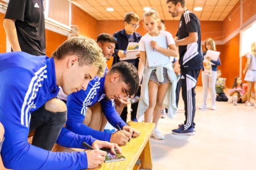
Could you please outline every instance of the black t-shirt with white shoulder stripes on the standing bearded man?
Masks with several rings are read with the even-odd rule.
[[[179,64],[182,70],[200,70],[203,65],[203,55],[201,46],[201,28],[197,15],[186,10],[179,21],[179,30],[176,36],[184,39],[189,33],[197,32],[198,41],[187,46],[179,46]]]

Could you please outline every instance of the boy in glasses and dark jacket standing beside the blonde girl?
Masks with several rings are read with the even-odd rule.
[[[124,29],[121,31],[117,31],[116,33],[113,34],[114,38],[116,38],[117,44],[113,54],[114,59],[113,59],[112,65],[114,65],[117,62],[120,62],[119,60],[120,58],[126,57],[125,51],[127,49],[129,42],[140,42],[140,39],[142,38],[142,36],[141,34],[135,32],[137,28],[139,28],[140,26],[139,22],[140,22],[140,17],[134,12],[128,12],[124,16]],[[140,57],[140,54],[138,54],[137,57]],[[132,59],[132,60],[125,60],[125,62],[132,63],[138,69],[139,58]],[[137,94],[135,95],[140,96],[140,87]],[[122,105],[122,102],[117,100],[115,100],[115,103],[117,105]],[[119,107],[122,107],[122,106],[119,106]],[[138,103],[132,103],[132,111],[131,111],[132,121],[137,121],[136,119],[137,107],[138,107]],[[127,106],[124,107],[124,109],[122,110],[121,118],[126,122]]]

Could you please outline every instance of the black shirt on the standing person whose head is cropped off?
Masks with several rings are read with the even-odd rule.
[[[10,0],[4,18],[14,19],[20,48],[32,55],[46,55],[43,0]]]

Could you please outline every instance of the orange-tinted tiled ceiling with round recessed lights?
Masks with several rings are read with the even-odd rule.
[[[223,21],[239,0],[186,0],[187,9],[195,12],[200,20]],[[96,20],[123,20],[126,12],[134,11],[140,18],[143,7],[156,8],[163,20],[179,20],[167,12],[166,0],[71,0],[73,4],[87,12]],[[112,7],[113,12],[106,9]],[[202,11],[195,11],[202,7]]]

